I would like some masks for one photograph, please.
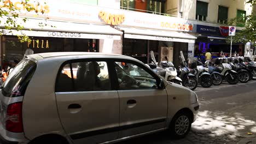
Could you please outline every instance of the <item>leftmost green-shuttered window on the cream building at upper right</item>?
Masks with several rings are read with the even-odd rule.
[[[196,20],[206,21],[208,14],[208,3],[196,1]]]

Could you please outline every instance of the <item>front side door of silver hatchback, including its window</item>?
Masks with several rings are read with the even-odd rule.
[[[160,78],[133,61],[115,61],[120,99],[120,137],[165,128],[167,93]]]

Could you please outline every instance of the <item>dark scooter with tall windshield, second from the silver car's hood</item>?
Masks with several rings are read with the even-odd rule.
[[[179,56],[180,66],[179,66],[178,76],[181,77],[182,85],[184,87],[194,90],[197,87],[196,76],[190,73],[190,70],[187,67],[187,63],[183,56],[183,52],[180,51],[179,53],[180,53],[180,56]]]

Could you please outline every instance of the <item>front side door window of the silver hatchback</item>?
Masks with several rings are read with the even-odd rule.
[[[156,89],[156,79],[136,64],[115,62],[119,89]]]

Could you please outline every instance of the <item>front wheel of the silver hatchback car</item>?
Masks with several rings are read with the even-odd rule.
[[[182,139],[188,135],[191,124],[191,115],[188,112],[179,112],[172,118],[168,131],[173,139]]]

